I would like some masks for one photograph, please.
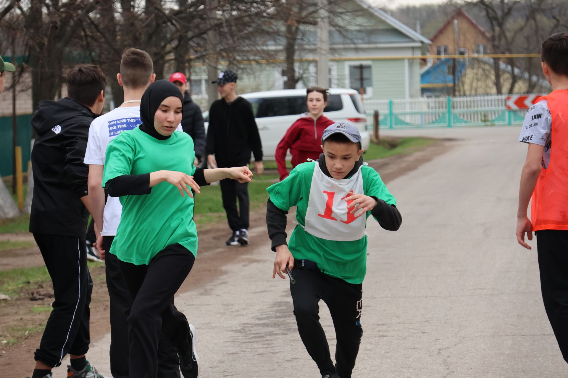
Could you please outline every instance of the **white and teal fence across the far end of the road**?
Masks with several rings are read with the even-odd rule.
[[[369,121],[379,111],[381,129],[522,124],[527,109],[508,110],[506,101],[507,95],[366,100],[365,110]]]

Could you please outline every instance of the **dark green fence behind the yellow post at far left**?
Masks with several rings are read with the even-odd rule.
[[[22,171],[28,171],[30,161],[30,143],[32,140],[32,115],[22,114],[16,117],[16,144],[22,147]],[[0,176],[12,175],[12,117],[0,117]]]

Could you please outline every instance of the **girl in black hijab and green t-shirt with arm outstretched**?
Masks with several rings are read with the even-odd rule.
[[[134,300],[128,317],[131,377],[155,378],[160,333],[176,347],[185,378],[199,374],[195,328],[173,304],[197,256],[193,188],[222,179],[248,182],[247,167],[196,169],[193,140],[174,133],[182,118],[181,92],[167,80],[148,86],[139,128],[108,144],[103,183],[120,197],[122,218],[110,253]],[[187,196],[186,196],[187,194]]]

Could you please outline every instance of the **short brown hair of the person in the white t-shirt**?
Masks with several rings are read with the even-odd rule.
[[[120,77],[128,88],[142,88],[150,82],[154,64],[150,54],[143,50],[128,48],[120,60]]]

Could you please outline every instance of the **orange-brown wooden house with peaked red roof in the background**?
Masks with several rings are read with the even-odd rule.
[[[457,50],[454,20],[457,20],[458,26]],[[431,55],[491,54],[491,36],[461,9],[458,9],[430,40]]]

